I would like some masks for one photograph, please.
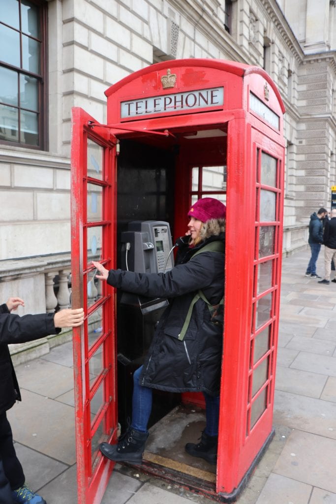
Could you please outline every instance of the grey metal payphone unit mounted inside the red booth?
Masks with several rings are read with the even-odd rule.
[[[122,269],[137,273],[164,273],[173,267],[168,222],[132,221],[121,233]]]

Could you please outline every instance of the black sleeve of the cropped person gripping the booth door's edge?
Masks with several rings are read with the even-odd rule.
[[[25,343],[59,332],[54,326],[54,313],[19,317],[0,312],[0,344]]]

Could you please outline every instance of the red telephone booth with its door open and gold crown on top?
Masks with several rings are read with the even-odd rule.
[[[86,309],[84,327],[74,330],[79,502],[102,498],[114,463],[98,446],[115,442],[131,393],[127,366],[139,365],[146,346],[130,355],[145,341],[125,336],[136,316],[123,311],[114,289],[94,280],[91,261],[120,267],[120,233],[129,221],[167,221],[175,238],[184,235],[190,204],[206,196],[227,205],[217,468],[149,450],[142,469],[230,502],[274,433],[284,105],[262,69],[216,59],[152,65],[106,96],[107,124],[73,109],[72,299]],[[136,327],[143,324],[146,333],[154,319]],[[202,406],[197,394],[158,397],[168,410],[177,403],[189,405],[190,414]]]

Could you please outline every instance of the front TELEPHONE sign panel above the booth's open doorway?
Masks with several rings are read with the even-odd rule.
[[[162,112],[177,112],[209,108],[224,104],[224,89],[209,88],[184,93],[150,96],[140,100],[121,102],[120,117],[138,117],[141,115],[161,114]]]

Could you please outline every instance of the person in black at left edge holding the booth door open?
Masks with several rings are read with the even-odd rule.
[[[84,311],[64,309],[57,313],[41,313],[19,317],[11,314],[24,302],[11,297],[0,305],[0,504],[45,504],[45,500],[25,484],[25,475],[16,456],[11,425],[6,411],[21,401],[9,344],[25,343],[49,334],[58,334],[62,327],[83,324]]]

